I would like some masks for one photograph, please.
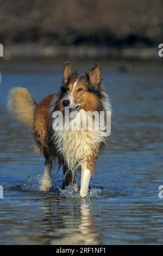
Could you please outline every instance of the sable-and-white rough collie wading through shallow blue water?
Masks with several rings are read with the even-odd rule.
[[[52,167],[57,160],[59,167],[63,166],[62,188],[71,184],[77,191],[77,171],[81,169],[80,196],[85,197],[98,155],[108,137],[102,136],[102,129],[88,129],[89,118],[84,119],[85,129],[78,129],[79,124],[84,123],[81,113],[88,117],[87,113],[111,111],[98,64],[79,75],[66,62],[64,79],[57,94],[50,94],[37,104],[27,88],[16,87],[10,91],[8,106],[18,121],[30,127],[36,149],[45,156],[40,191],[51,188]],[[65,118],[65,111],[69,117],[73,111],[76,115],[71,116],[64,129],[56,129],[59,119],[55,113],[62,113]],[[74,120],[77,125],[70,129]],[[95,122],[95,117],[93,120]],[[62,123],[66,124],[65,119]]]

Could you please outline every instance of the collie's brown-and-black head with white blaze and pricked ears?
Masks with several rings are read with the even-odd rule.
[[[85,74],[79,75],[69,62],[64,66],[64,80],[61,87],[62,107],[70,110],[94,111],[101,108],[101,74],[98,64]]]

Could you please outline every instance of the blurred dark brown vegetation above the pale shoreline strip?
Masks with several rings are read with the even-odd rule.
[[[163,40],[161,0],[0,0],[0,42],[153,47]]]

